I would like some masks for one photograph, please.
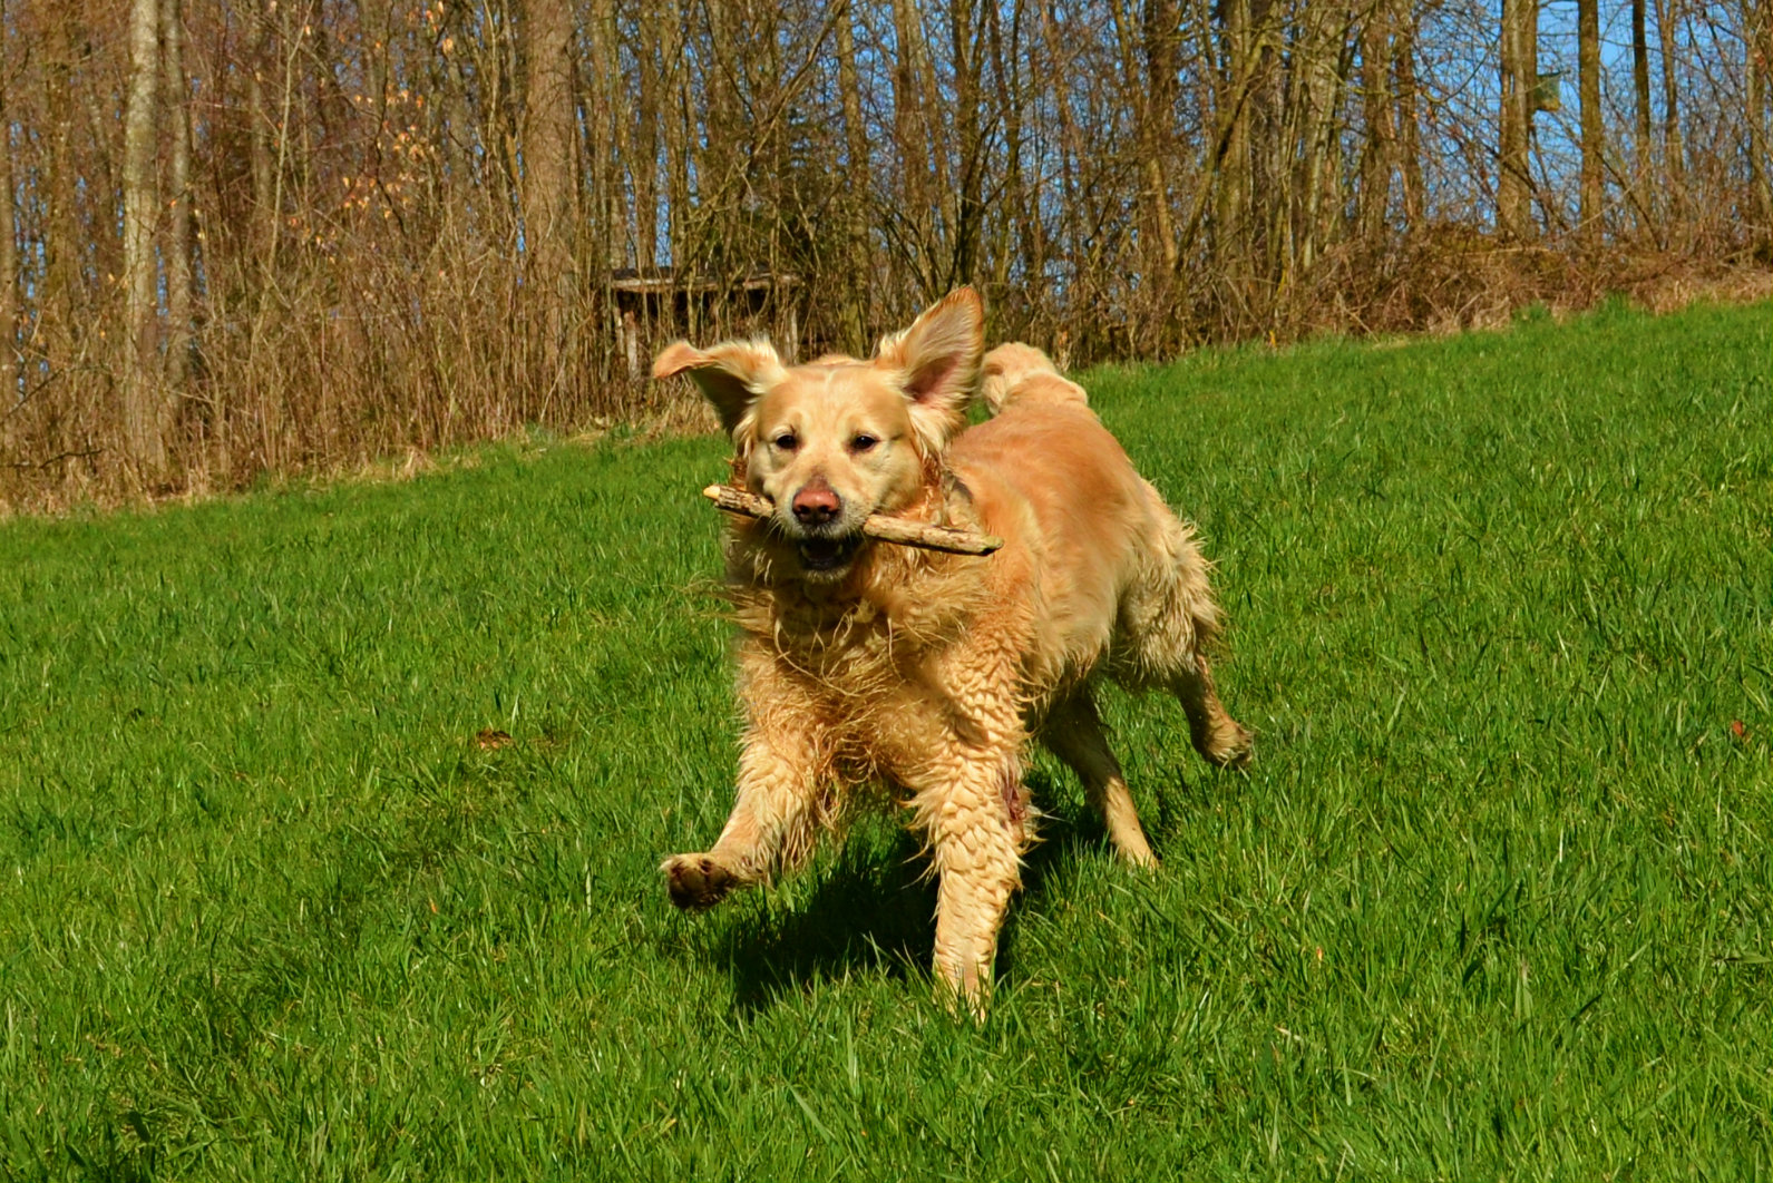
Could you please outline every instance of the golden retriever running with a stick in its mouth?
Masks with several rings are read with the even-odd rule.
[[[1248,760],[1207,661],[1222,632],[1190,526],[1133,471],[1082,386],[1028,345],[984,354],[957,289],[871,360],[784,365],[764,340],[667,347],[773,503],[727,533],[745,731],[738,800],[715,845],[661,864],[699,910],[805,862],[862,786],[908,806],[938,875],[934,978],[980,1011],[1034,809],[1030,740],[1083,783],[1121,857],[1156,859],[1094,687],[1165,689],[1195,749]],[[982,397],[993,418],[966,427]],[[871,514],[1004,538],[991,556],[865,538]]]

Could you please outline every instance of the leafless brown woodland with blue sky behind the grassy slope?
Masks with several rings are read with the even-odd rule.
[[[1764,290],[1769,7],[0,0],[0,510],[670,420],[667,340],[959,283],[1064,365]]]

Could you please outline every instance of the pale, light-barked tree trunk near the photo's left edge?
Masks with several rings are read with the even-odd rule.
[[[158,482],[167,468],[167,446],[160,434],[160,276],[154,262],[158,104],[160,5],[156,0],[131,0],[122,184],[122,425],[129,460],[149,483]]]

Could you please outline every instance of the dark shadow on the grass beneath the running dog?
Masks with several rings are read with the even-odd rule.
[[[1050,777],[1028,786],[1048,813],[1041,839],[1023,857],[1021,891],[1011,900],[1000,940],[998,986],[1016,978],[1016,917],[1041,914],[1066,893],[1076,855],[1113,857],[1101,823],[1066,799]],[[936,944],[936,880],[918,838],[890,822],[863,822],[803,900],[771,900],[729,923],[706,947],[732,979],[743,1013],[817,981],[885,974],[927,985]],[[787,894],[787,893],[784,893]]]

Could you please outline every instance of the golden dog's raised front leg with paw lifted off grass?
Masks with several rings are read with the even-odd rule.
[[[800,866],[826,822],[832,792],[810,737],[754,730],[739,754],[738,800],[713,848],[660,864],[670,901],[707,909],[732,891]]]

